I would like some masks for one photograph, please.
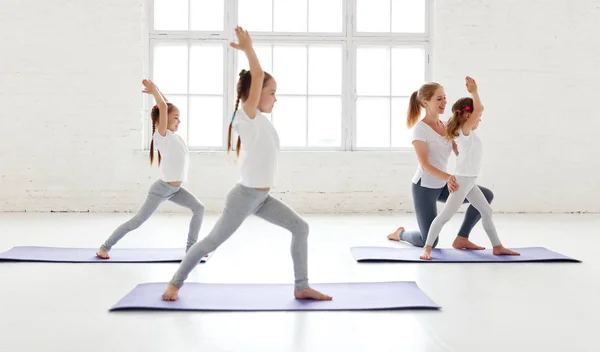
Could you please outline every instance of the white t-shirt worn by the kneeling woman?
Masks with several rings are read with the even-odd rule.
[[[412,129],[413,141],[423,141],[427,143],[427,156],[429,163],[446,172],[448,159],[452,153],[452,142],[445,136],[441,136],[433,128],[429,127],[423,121],[419,121]],[[413,176],[412,182],[417,184],[421,180],[421,186],[425,188],[442,188],[446,185],[445,180],[429,175],[423,171],[421,163],[417,166],[417,172]]]

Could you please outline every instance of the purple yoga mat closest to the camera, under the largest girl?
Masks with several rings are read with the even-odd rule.
[[[110,311],[297,311],[439,309],[415,282],[362,282],[311,285],[333,297],[332,301],[296,300],[290,284],[186,283],[177,301],[164,301],[167,283],[136,286]]]

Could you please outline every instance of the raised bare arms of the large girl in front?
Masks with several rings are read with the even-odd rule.
[[[248,63],[250,64],[250,77],[252,80],[250,82],[250,92],[248,98],[244,101],[243,109],[246,115],[253,119],[256,117],[256,108],[260,101],[265,73],[260,66],[256,52],[254,52],[252,39],[250,38],[248,31],[244,30],[242,27],[236,27],[235,35],[237,36],[238,43],[231,43],[231,47],[242,50],[244,54],[246,54]]]

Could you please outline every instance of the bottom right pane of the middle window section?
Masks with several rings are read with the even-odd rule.
[[[308,98],[308,145],[339,147],[342,144],[342,98]]]

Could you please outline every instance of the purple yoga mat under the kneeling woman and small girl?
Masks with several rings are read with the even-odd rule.
[[[352,247],[350,251],[358,262],[419,262],[419,263],[523,263],[523,262],[581,262],[543,247],[513,248],[520,256],[492,254],[464,249],[437,249],[431,251],[431,260],[421,260],[422,248]]]

